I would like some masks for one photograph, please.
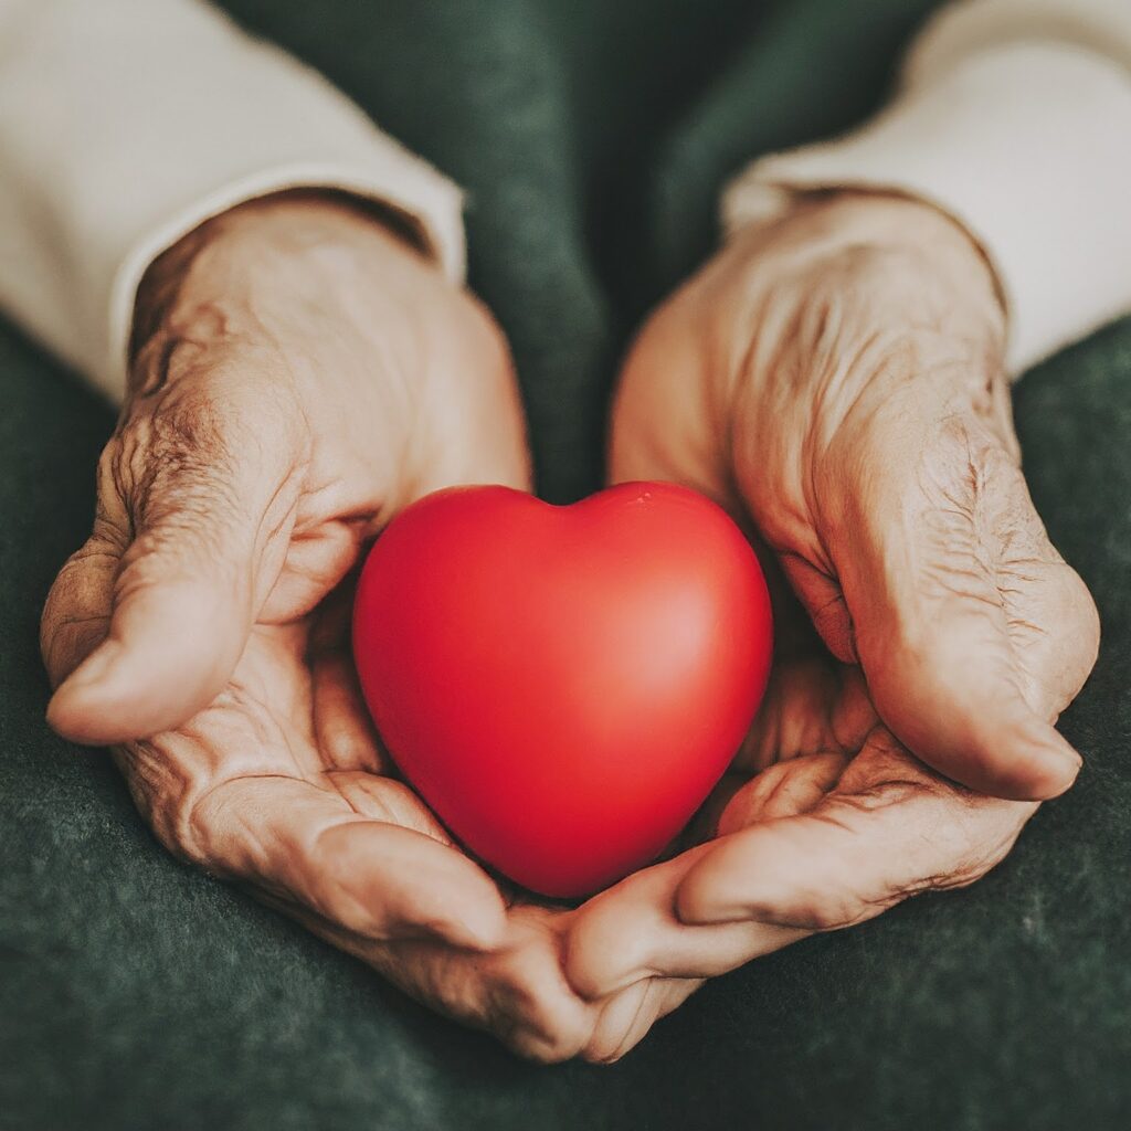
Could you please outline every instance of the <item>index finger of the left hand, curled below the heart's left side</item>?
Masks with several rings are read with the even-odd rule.
[[[375,779],[374,779],[375,780]],[[370,791],[368,812],[413,822],[404,786]],[[353,802],[357,804],[356,800]],[[336,792],[286,777],[239,778],[193,805],[175,847],[209,871],[371,941],[434,938],[497,946],[506,908],[486,873],[417,828],[357,812]]]

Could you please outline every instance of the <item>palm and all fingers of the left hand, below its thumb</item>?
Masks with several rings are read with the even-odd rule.
[[[397,777],[353,672],[351,601],[347,584],[311,614],[257,625],[214,703],[120,750],[155,829],[413,996],[527,1055],[620,1055],[693,987],[576,996],[560,964],[571,913],[497,884]],[[193,783],[173,817],[180,832],[167,785],[147,794],[146,783],[171,774]]]

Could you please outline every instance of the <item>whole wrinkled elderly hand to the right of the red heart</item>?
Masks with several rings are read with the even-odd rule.
[[[584,993],[710,976],[969,883],[1074,779],[1053,724],[1098,624],[1021,475],[1003,339],[957,225],[853,193],[746,231],[644,330],[613,477],[717,499],[808,616],[771,577],[775,675],[703,815],[717,838],[580,909]]]

